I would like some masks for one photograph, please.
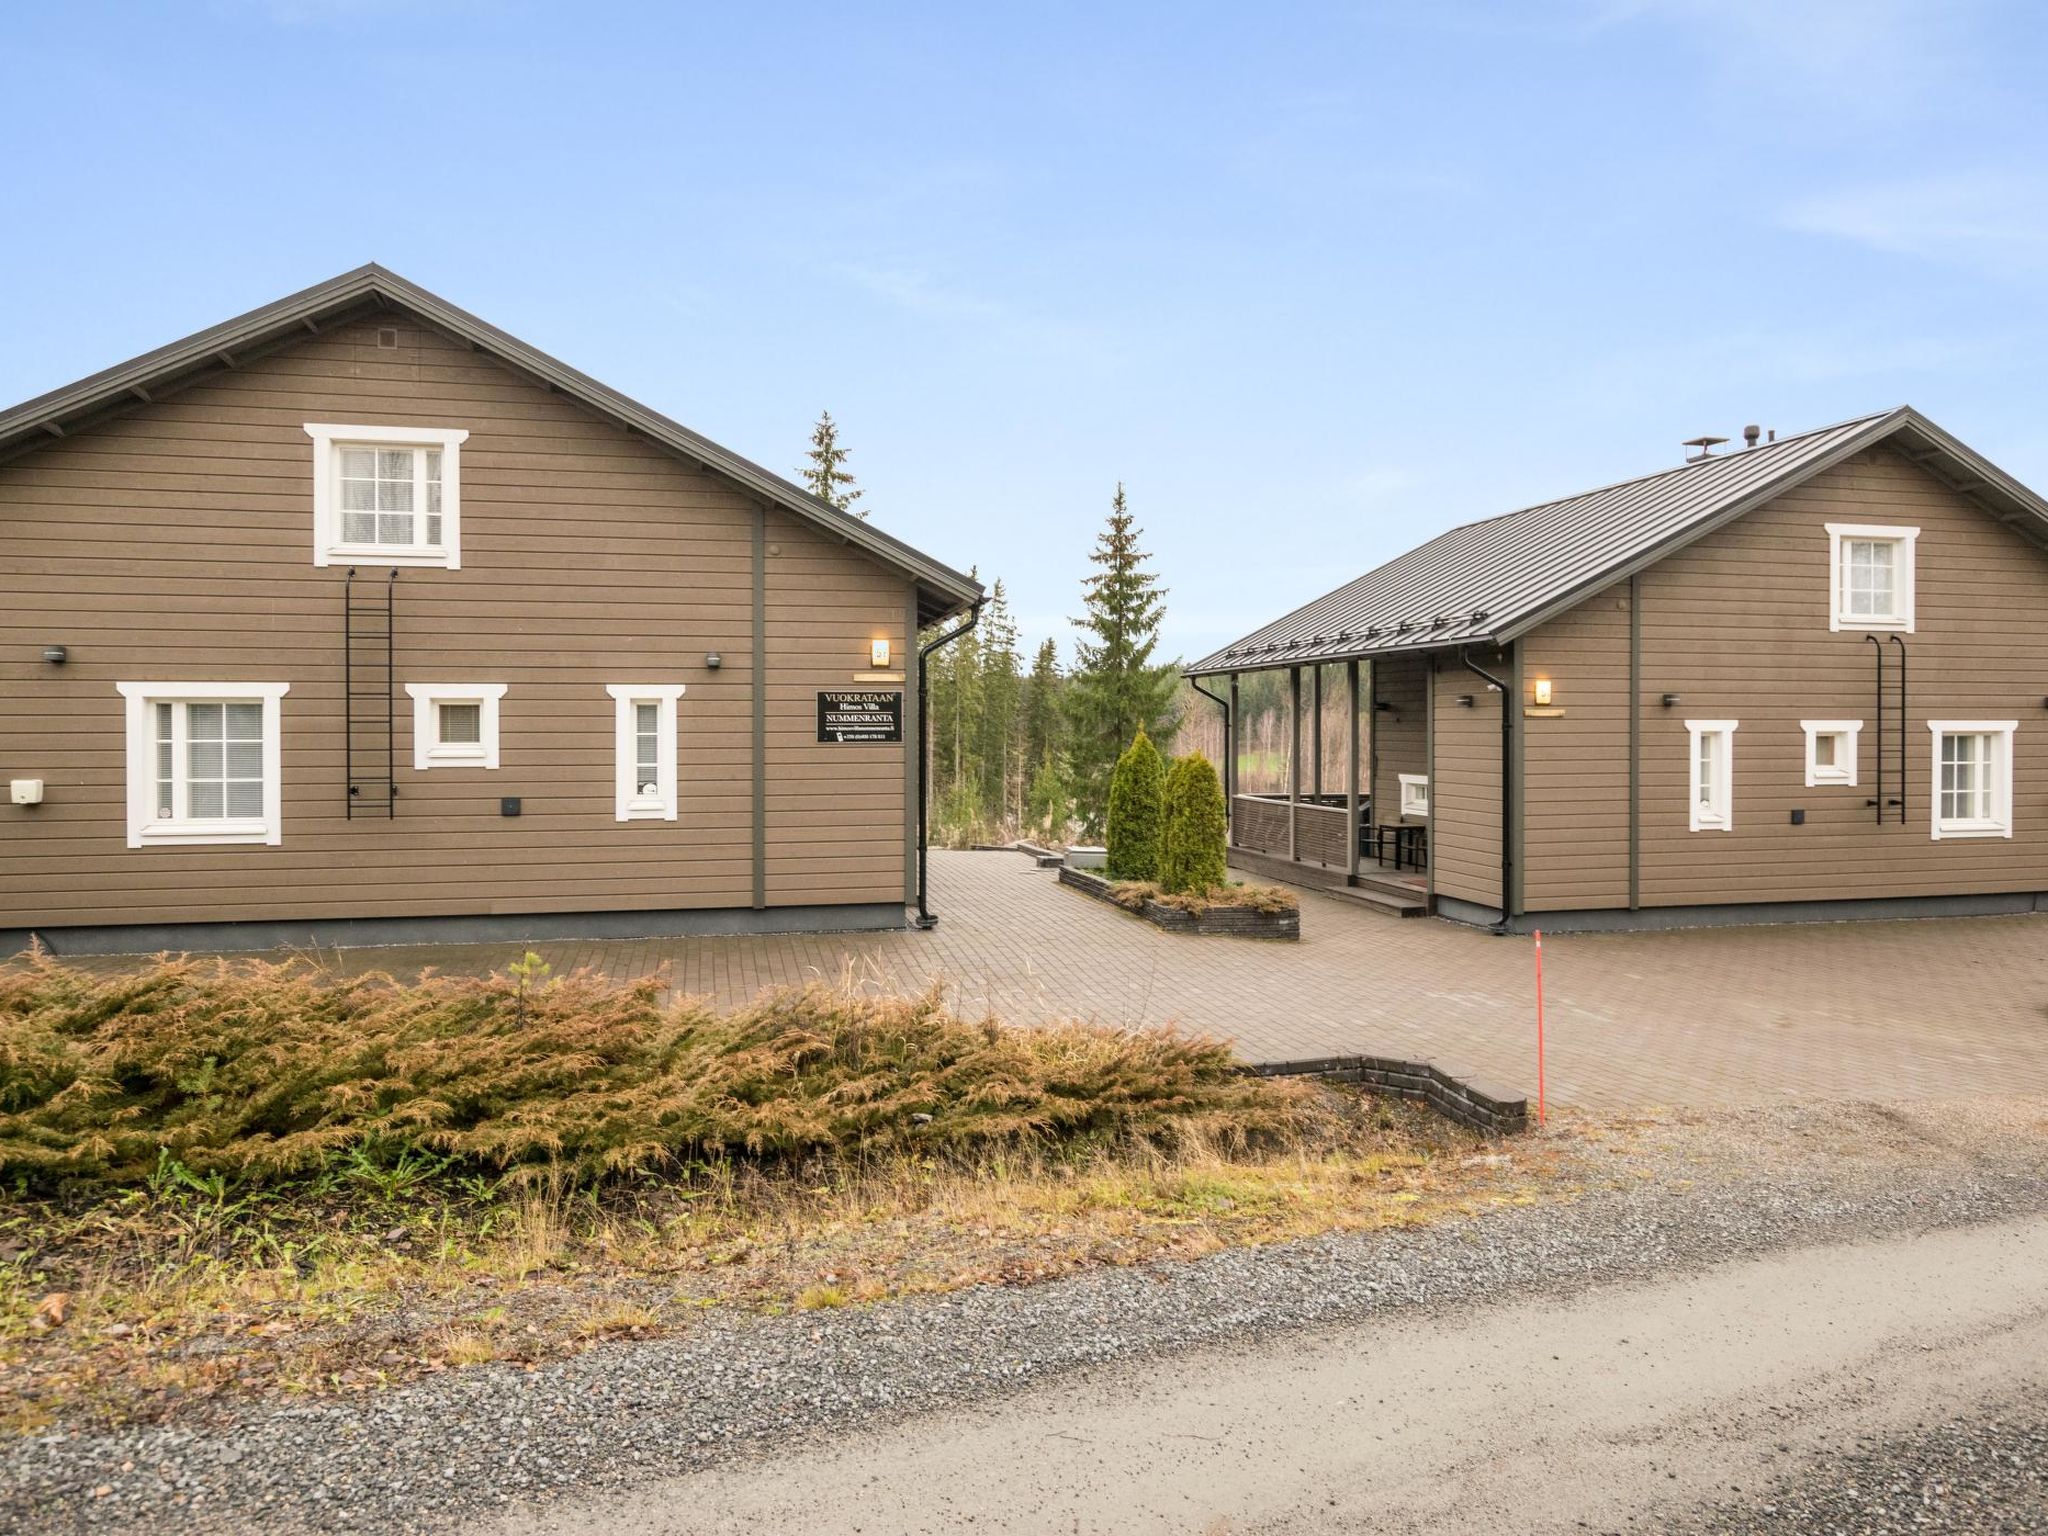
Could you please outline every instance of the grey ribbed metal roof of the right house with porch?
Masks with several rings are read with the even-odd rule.
[[[1186,668],[1505,643],[1878,442],[2048,545],[2048,502],[1911,406],[1466,522]]]

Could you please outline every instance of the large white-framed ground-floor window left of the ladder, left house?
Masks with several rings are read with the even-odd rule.
[[[289,682],[117,682],[129,848],[276,844]]]

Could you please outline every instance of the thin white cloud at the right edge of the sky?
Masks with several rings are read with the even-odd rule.
[[[1978,170],[1870,182],[1798,203],[1784,225],[1898,256],[2023,276],[2048,270],[2048,178]]]

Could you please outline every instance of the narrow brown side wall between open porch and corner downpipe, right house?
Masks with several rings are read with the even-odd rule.
[[[1501,655],[1475,655],[1507,676]],[[1430,780],[1430,864],[1438,895],[1501,903],[1501,694],[1456,657],[1440,657],[1436,688],[1436,770]],[[1458,702],[1470,696],[1466,709]],[[1399,784],[1397,784],[1399,791]],[[1389,801],[1399,805],[1399,799]]]

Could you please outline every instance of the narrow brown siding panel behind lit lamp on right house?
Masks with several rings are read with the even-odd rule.
[[[1548,678],[1563,711],[1522,721],[1522,905],[1626,907],[1628,584],[1524,637],[1522,678],[1524,705]]]

